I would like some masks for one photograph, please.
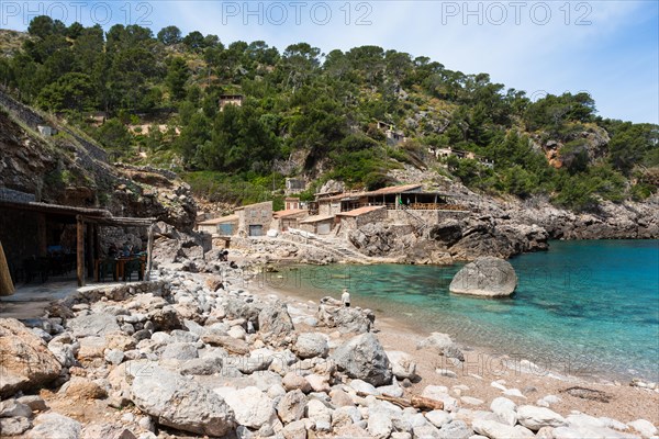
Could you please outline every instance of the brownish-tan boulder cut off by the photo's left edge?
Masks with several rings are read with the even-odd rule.
[[[0,396],[55,380],[62,364],[45,341],[15,318],[0,319]]]

